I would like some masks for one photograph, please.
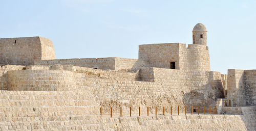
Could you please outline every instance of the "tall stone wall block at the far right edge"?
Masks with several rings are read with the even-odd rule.
[[[227,98],[236,107],[256,106],[256,70],[229,69]]]

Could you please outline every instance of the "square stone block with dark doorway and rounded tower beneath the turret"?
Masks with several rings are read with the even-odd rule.
[[[151,67],[210,71],[209,50],[206,45],[182,43],[139,45],[139,59],[146,60]]]

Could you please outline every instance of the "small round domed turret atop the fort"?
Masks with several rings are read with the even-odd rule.
[[[193,44],[207,45],[207,30],[202,23],[198,23],[193,28]]]

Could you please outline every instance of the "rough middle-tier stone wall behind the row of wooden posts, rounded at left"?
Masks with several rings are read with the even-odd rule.
[[[154,76],[148,81],[148,75]],[[26,66],[25,70],[7,71],[8,90],[91,91],[95,100],[109,113],[113,107],[124,114],[138,107],[151,112],[155,107],[209,106],[223,94],[219,72],[161,68],[140,70],[98,70],[77,66]],[[197,76],[197,77],[195,77]],[[200,83],[198,83],[200,81]],[[189,110],[189,109],[188,109]],[[143,110],[141,113],[146,113]]]

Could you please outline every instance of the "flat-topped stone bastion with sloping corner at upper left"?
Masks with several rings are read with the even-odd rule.
[[[55,59],[51,40],[43,37],[0,39],[1,65],[33,65],[34,60]]]

